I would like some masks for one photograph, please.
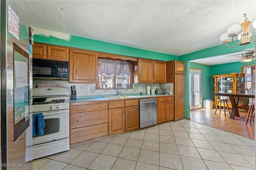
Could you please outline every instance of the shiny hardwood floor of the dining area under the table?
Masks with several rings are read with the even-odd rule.
[[[235,117],[235,119],[230,119],[228,112],[226,112],[226,117],[224,115],[224,111],[221,113],[217,111],[216,115],[214,113],[215,109],[198,109],[190,111],[190,118],[191,121],[197,123],[254,139],[254,120],[252,120],[251,123],[249,120],[246,125],[245,121],[247,112],[244,110],[239,111],[240,117]]]

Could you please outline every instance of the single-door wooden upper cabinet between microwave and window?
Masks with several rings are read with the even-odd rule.
[[[97,53],[70,49],[69,82],[96,83],[97,61]]]

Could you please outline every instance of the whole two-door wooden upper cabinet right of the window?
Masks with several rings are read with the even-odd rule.
[[[166,62],[139,58],[134,62],[134,83],[166,83]]]

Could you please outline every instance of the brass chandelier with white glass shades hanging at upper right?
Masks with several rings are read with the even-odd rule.
[[[220,36],[220,40],[227,47],[236,47],[237,45],[245,46],[246,44],[252,43],[251,41],[255,42],[255,34],[252,33],[253,28],[256,28],[256,20],[252,23],[248,20],[246,14],[244,14],[244,22],[229,26],[227,32]],[[228,45],[231,41],[234,43],[233,46]]]

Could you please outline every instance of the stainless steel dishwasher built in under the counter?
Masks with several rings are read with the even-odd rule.
[[[140,99],[140,128],[157,124],[156,98]]]

